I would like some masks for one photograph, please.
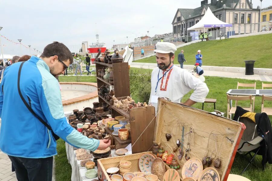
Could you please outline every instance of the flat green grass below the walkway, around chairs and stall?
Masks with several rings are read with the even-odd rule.
[[[151,71],[148,69],[140,69],[140,68],[131,68],[130,71],[139,71],[141,73]],[[209,87],[209,94],[207,98],[214,98],[217,99],[216,102],[216,109],[220,110],[225,113],[227,112],[227,97],[226,92],[229,89],[235,89],[237,87],[237,82],[241,83],[254,83],[256,82],[256,88],[261,89],[261,81],[253,81],[253,80],[244,80],[244,79],[238,79],[238,78],[221,78],[221,77],[205,77],[206,78],[206,84]],[[72,76],[60,76],[61,82],[73,82],[75,81],[75,77]],[[81,77],[81,81],[86,82],[96,82],[95,77],[93,76],[83,76]],[[185,102],[193,91],[190,91],[188,94],[186,94],[182,102]],[[249,104],[249,103],[246,103]],[[267,103],[265,106],[272,107],[272,103]],[[193,107],[202,108],[202,103],[196,103],[193,105]],[[212,103],[205,103],[204,110],[212,112],[213,111],[213,104]],[[255,97],[255,111],[256,113],[261,112],[261,97]],[[272,117],[270,116],[270,120]],[[68,163],[68,160],[66,158],[66,151],[65,151],[65,142],[63,140],[57,141],[57,151],[58,156],[56,156],[56,180],[70,180],[71,177],[71,166]],[[258,165],[261,166],[261,156],[256,157],[256,162]],[[232,174],[240,174],[241,171],[246,166],[247,162],[244,160],[241,156],[236,155],[234,164],[232,166],[231,173]],[[272,180],[272,166],[270,164],[266,165],[265,171],[262,171],[261,169],[256,169],[253,166],[249,166],[247,171],[243,174],[244,177],[250,179],[251,181],[268,181]]]

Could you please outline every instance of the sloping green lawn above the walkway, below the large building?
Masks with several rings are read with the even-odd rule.
[[[193,43],[177,49],[174,63],[178,64],[177,56],[183,49],[187,60],[184,65],[194,65],[197,50],[200,49],[203,65],[245,67],[244,60],[256,60],[255,68],[271,68],[271,38],[272,34],[265,34]],[[135,62],[156,63],[156,58],[152,56]]]

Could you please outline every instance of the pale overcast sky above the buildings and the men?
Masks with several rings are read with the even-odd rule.
[[[110,48],[116,43],[134,41],[135,34],[150,36],[172,32],[177,8],[197,8],[201,0],[0,0],[0,34],[10,40],[31,45],[42,52],[53,41],[64,43],[71,51],[78,51],[82,41],[89,44],[103,41]],[[210,0],[209,0],[210,2]],[[260,5],[252,0],[253,7]],[[271,5],[263,0],[262,7]],[[154,26],[154,27],[153,27]],[[153,28],[151,28],[153,27]],[[133,34],[135,33],[135,34]],[[20,54],[20,45],[1,38],[4,53]],[[22,53],[29,49],[22,46]],[[34,53],[34,52],[31,52]]]

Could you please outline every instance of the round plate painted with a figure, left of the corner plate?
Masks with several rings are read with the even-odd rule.
[[[201,160],[198,158],[191,158],[183,165],[181,176],[183,179],[192,177],[193,179],[197,180],[202,170],[203,165]]]

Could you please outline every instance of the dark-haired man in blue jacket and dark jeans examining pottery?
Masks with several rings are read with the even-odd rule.
[[[7,67],[0,84],[0,149],[8,154],[18,181],[52,180],[53,155],[57,154],[53,133],[78,148],[91,151],[108,148],[110,141],[89,139],[66,121],[59,83],[54,77],[64,74],[73,63],[73,56],[64,44],[47,45],[40,58],[32,56],[21,69],[22,97],[51,129],[28,110],[19,95],[21,63]]]

